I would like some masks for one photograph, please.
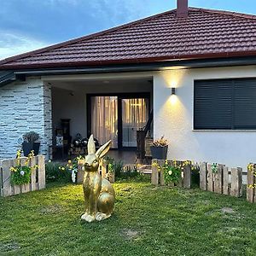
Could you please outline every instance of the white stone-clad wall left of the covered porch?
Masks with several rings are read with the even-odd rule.
[[[49,158],[52,141],[51,88],[40,78],[0,87],[0,159],[13,158],[26,131],[40,135],[40,154]]]

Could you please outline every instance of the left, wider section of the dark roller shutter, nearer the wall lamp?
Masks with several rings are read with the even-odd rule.
[[[232,81],[195,81],[194,128],[232,129]]]

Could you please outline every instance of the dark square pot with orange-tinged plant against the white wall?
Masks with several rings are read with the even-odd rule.
[[[152,159],[166,160],[168,143],[162,136],[160,139],[156,139],[150,144],[150,151]]]

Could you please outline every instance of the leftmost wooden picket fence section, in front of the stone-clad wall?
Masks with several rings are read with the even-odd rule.
[[[21,166],[25,165],[26,157],[20,159]],[[34,190],[45,188],[45,159],[44,155],[39,154],[32,157],[30,166],[37,165],[38,168],[32,170],[31,183],[25,185],[12,185],[10,183],[11,166],[17,166],[16,159],[0,160],[0,196],[18,195]]]

